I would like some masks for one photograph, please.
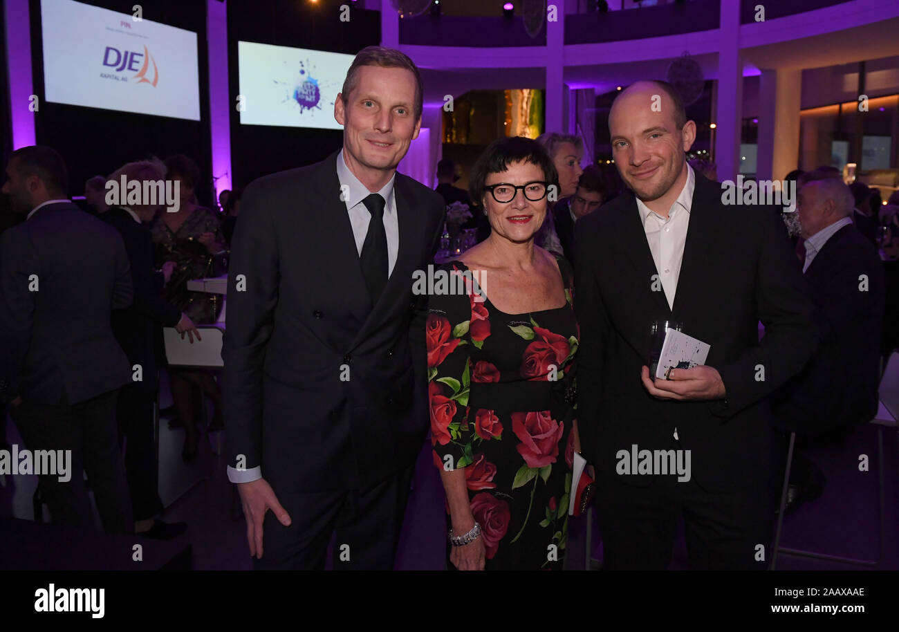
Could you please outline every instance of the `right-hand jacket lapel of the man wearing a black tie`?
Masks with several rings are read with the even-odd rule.
[[[399,233],[396,263],[387,280],[387,287],[378,299],[378,303],[372,307],[369,317],[365,320],[365,325],[362,325],[359,334],[356,335],[356,339],[352,343],[353,348],[383,323],[397,305],[403,305],[405,294],[412,287],[412,272],[421,264],[416,260],[416,256],[422,252],[420,246],[422,245],[424,217],[422,213],[416,212],[413,208],[412,191],[409,191],[406,184],[404,176],[396,174],[394,198]],[[363,281],[363,289],[364,287]]]

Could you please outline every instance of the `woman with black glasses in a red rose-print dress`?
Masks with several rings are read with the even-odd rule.
[[[572,271],[534,245],[556,169],[528,138],[478,158],[472,200],[492,233],[441,266],[427,322],[434,465],[460,570],[561,568],[574,420]],[[480,209],[479,209],[480,210]],[[464,291],[452,289],[464,288]],[[466,542],[466,543],[463,543]]]

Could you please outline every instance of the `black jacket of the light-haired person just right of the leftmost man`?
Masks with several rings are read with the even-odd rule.
[[[129,212],[112,207],[102,214],[103,221],[119,231],[128,253],[134,301],[130,307],[112,311],[112,332],[131,365],[139,364],[143,379],[138,384],[148,395],[159,387],[162,327],[174,327],[181,310],[162,298],[163,277],[153,267],[153,236],[149,228],[138,224]]]

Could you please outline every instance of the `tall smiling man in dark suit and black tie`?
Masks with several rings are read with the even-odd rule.
[[[244,191],[222,390],[256,568],[321,568],[334,530],[336,568],[393,566],[429,419],[412,275],[445,208],[396,173],[422,93],[404,54],[361,50],[334,102],[343,149]]]

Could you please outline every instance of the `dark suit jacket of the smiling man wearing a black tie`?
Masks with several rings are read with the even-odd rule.
[[[374,485],[414,462],[428,426],[427,300],[412,285],[443,200],[396,174],[399,251],[372,308],[337,156],[251,183],[231,247],[227,463],[262,466],[276,492]]]

